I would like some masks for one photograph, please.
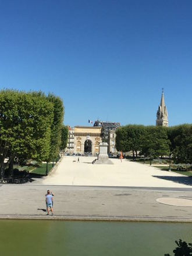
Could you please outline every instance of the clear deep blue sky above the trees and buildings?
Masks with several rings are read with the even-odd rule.
[[[192,123],[192,1],[0,0],[0,86],[52,92],[66,125]]]

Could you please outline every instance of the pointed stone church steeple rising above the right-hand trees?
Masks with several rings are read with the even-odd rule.
[[[168,127],[168,111],[165,106],[163,88],[162,88],[162,95],[161,95],[161,103],[157,111],[156,126]]]

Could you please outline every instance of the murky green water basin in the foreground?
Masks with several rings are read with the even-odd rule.
[[[175,240],[192,242],[192,223],[0,221],[0,255],[173,255]]]

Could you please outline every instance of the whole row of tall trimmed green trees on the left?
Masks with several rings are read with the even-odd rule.
[[[13,175],[14,159],[49,162],[58,157],[63,127],[63,102],[54,94],[0,91],[0,180],[5,168]],[[5,159],[8,159],[6,162]]]

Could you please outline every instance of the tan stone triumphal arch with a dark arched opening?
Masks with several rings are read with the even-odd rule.
[[[101,127],[74,127],[74,153],[97,155],[101,142]]]

